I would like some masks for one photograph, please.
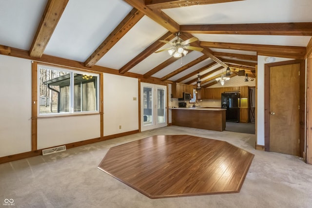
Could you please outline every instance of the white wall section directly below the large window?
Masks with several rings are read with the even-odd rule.
[[[38,118],[37,148],[45,149],[100,137],[100,116]]]

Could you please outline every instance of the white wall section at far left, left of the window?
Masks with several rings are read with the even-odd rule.
[[[0,157],[31,151],[31,61],[0,55]]]

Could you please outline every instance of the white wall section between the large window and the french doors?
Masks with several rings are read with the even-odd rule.
[[[106,73],[103,79],[104,136],[138,130],[138,79]]]

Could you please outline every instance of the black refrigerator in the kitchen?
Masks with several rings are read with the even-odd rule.
[[[239,122],[239,93],[222,93],[221,108],[226,109],[226,121]]]

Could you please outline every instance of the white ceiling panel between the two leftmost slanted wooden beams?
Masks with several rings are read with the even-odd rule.
[[[84,62],[131,10],[122,0],[70,0],[44,54]]]

